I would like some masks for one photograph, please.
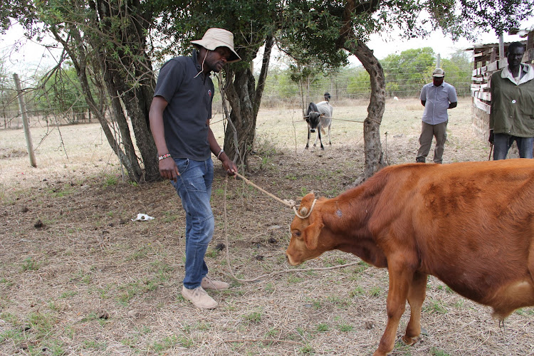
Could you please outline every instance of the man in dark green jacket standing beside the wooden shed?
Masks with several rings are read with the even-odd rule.
[[[510,43],[508,66],[491,75],[489,142],[495,160],[506,159],[514,141],[519,157],[533,158],[534,68],[521,63],[524,54],[523,43]]]

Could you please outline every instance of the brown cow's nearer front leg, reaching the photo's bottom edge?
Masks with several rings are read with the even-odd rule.
[[[396,265],[393,261],[389,263],[389,292],[387,293],[387,325],[384,334],[380,339],[378,349],[374,356],[386,356],[393,350],[399,321],[406,308],[406,300],[409,291],[409,283],[412,281],[413,273],[409,268],[402,265]]]

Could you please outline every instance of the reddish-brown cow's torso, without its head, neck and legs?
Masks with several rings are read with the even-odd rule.
[[[406,164],[377,176],[379,246],[402,246],[419,271],[494,308],[513,286],[532,288],[534,160]]]

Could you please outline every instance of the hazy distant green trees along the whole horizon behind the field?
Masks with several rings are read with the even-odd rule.
[[[413,98],[419,96],[422,86],[431,80],[432,70],[436,67],[436,53],[432,48],[417,48],[391,54],[382,59],[386,79],[386,92],[390,98]],[[1,63],[1,62],[0,62]],[[459,95],[471,94],[471,58],[469,53],[458,51],[450,58],[442,58],[441,68],[444,68],[447,83],[455,86]],[[0,70],[1,72],[2,70]],[[3,114],[4,127],[9,125],[9,116],[14,117],[18,104],[12,88],[12,78],[3,73],[1,75],[0,103]],[[218,83],[215,83],[216,85]],[[369,98],[371,93],[370,78],[367,70],[362,66],[345,66],[337,70],[324,71],[321,68],[308,69],[288,66],[282,69],[273,66],[266,79],[264,105],[277,103],[298,105],[300,95],[306,94],[306,101],[323,98],[328,91],[334,100],[352,100]],[[30,115],[37,115],[41,120],[56,124],[61,117],[63,123],[87,122],[91,119],[90,110],[83,100],[83,91],[76,76],[72,63],[66,61],[63,66],[55,70],[38,75],[30,85],[34,89],[26,93],[27,109]],[[91,90],[99,90],[99,85],[90,85]],[[220,101],[220,95],[216,101]],[[9,113],[8,113],[9,111]],[[55,121],[56,120],[56,121]],[[14,125],[16,127],[16,125]]]

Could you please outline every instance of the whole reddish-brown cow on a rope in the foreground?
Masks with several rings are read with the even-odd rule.
[[[534,305],[532,159],[386,167],[333,199],[306,195],[299,215],[291,265],[337,249],[387,268],[388,321],[374,355],[393,350],[406,300],[402,340],[418,340],[429,274],[500,320]]]

